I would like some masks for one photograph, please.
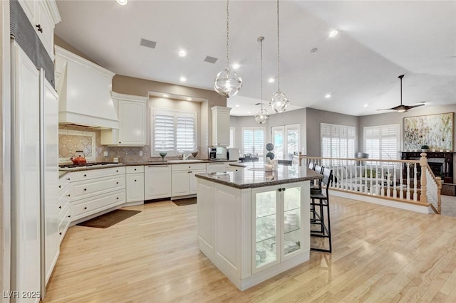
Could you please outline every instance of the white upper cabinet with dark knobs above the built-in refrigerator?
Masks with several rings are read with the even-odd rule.
[[[61,21],[57,4],[54,0],[19,0],[28,20],[35,28],[44,48],[54,59],[54,27]]]

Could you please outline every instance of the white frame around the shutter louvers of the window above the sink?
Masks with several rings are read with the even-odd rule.
[[[155,115],[172,115],[174,117],[174,150],[166,151],[167,156],[177,156],[177,117],[192,117],[193,118],[193,132],[195,146],[193,149],[197,149],[198,146],[198,115],[195,111],[190,110],[171,110],[167,108],[150,108],[150,156],[160,156],[160,151],[155,149]],[[190,152],[190,151],[184,151]]]

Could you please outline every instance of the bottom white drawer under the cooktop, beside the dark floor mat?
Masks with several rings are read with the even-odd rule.
[[[78,220],[80,218],[90,216],[98,211],[118,206],[125,203],[125,188],[120,191],[113,191],[104,193],[99,196],[86,198],[77,203],[71,203],[71,220]]]

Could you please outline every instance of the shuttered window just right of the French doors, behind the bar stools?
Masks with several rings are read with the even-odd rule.
[[[320,124],[321,157],[353,158],[355,156],[356,127],[336,124]],[[348,164],[347,161],[339,162]],[[329,165],[323,161],[323,165]]]

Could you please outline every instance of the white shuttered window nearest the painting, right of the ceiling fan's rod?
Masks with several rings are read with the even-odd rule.
[[[397,160],[399,124],[364,127],[364,151],[369,159]]]

